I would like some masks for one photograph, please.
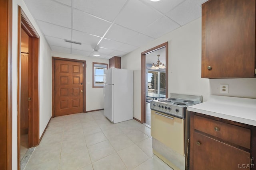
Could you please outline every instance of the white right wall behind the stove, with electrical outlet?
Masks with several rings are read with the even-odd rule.
[[[141,53],[168,41],[168,92],[202,95],[223,95],[219,84],[229,84],[226,96],[256,98],[256,78],[206,79],[201,78],[201,18],[194,20],[122,57],[122,68],[141,69]],[[140,86],[140,79],[134,79]],[[134,92],[134,117],[140,117],[140,88]]]

